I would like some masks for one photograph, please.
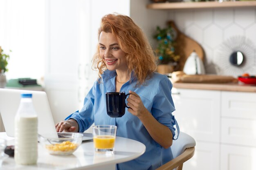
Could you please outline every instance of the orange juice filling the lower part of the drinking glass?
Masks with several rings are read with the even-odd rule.
[[[93,137],[94,147],[97,149],[112,149],[115,145],[115,136],[98,135]]]

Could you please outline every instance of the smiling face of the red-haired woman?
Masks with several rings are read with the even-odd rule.
[[[126,53],[121,50],[115,35],[102,31],[99,35],[99,48],[99,55],[108,70],[127,71]]]

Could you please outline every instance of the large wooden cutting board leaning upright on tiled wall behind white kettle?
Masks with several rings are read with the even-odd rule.
[[[177,29],[177,26],[173,21],[168,21],[168,24],[170,24],[177,33],[177,37],[175,39],[175,42],[177,43],[175,46],[175,52],[177,55],[180,55],[179,68],[177,68],[177,70],[183,70],[186,59],[194,50],[198,54],[198,57],[204,62],[205,54],[202,46]]]

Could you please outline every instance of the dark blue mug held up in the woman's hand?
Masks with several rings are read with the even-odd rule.
[[[125,113],[125,108],[130,108],[126,105],[127,95],[124,92],[106,93],[107,114],[110,117],[122,117]]]

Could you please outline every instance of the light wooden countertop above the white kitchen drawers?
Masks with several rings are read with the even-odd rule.
[[[172,80],[171,80],[172,81]],[[173,83],[174,88],[189,88],[200,90],[256,92],[256,85],[238,83]]]

